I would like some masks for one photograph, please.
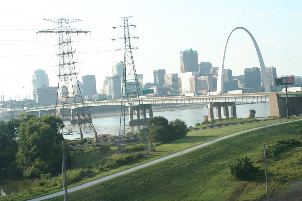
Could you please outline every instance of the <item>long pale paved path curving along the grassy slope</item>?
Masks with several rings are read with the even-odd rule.
[[[298,119],[298,120],[294,120],[294,121],[301,121],[301,120],[302,119]],[[294,122],[294,121],[286,121],[286,122],[282,122],[282,123],[271,124],[271,125],[266,125],[266,126],[257,127],[257,128],[251,128],[251,129],[243,130],[243,131],[240,131],[240,132],[237,132],[237,133],[233,133],[233,134],[230,134],[230,135],[227,135],[227,136],[224,136],[224,137],[220,137],[220,138],[217,138],[215,140],[211,140],[209,142],[202,143],[200,145],[193,146],[191,148],[188,148],[188,149],[185,149],[185,150],[182,150],[182,151],[179,151],[179,152],[175,152],[175,153],[173,153],[171,155],[164,156],[164,157],[162,157],[160,159],[156,159],[154,161],[150,161],[150,162],[144,163],[142,165],[137,165],[137,166],[135,166],[133,168],[130,168],[130,169],[127,169],[127,170],[124,170],[124,171],[120,171],[120,172],[108,175],[106,177],[102,177],[102,178],[96,179],[94,181],[90,181],[90,182],[87,182],[85,184],[81,184],[79,186],[75,186],[75,187],[69,188],[68,189],[68,193],[71,193],[73,191],[80,190],[80,189],[92,186],[94,184],[98,184],[98,183],[103,182],[103,181],[107,181],[107,180],[112,179],[114,177],[118,177],[120,175],[127,174],[129,172],[133,172],[133,171],[141,169],[141,168],[145,168],[145,167],[147,167],[149,165],[153,165],[153,164],[156,164],[158,162],[162,162],[162,161],[167,160],[167,159],[171,159],[171,158],[173,158],[175,156],[188,153],[188,152],[193,151],[195,149],[199,149],[199,148],[201,148],[203,146],[207,146],[207,145],[212,144],[214,142],[218,142],[220,140],[224,140],[226,138],[233,137],[235,135],[239,135],[241,133],[246,133],[246,132],[249,132],[249,131],[252,131],[252,130],[257,130],[257,129],[261,129],[261,128],[265,128],[265,127],[275,126],[275,125],[278,125],[278,124],[286,124],[286,123]],[[57,193],[52,193],[52,194],[49,194],[49,195],[46,195],[46,196],[42,196],[42,197],[38,197],[38,198],[35,198],[35,199],[31,199],[30,201],[38,201],[38,200],[48,199],[48,198],[52,198],[52,197],[56,197],[56,196],[60,196],[60,195],[63,195],[63,190],[60,191],[60,192],[57,192]]]

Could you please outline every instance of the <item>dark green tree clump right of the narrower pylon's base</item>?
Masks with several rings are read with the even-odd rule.
[[[168,142],[169,140],[185,137],[188,127],[185,121],[175,119],[168,121],[163,116],[156,116],[148,121],[149,136],[153,142]]]

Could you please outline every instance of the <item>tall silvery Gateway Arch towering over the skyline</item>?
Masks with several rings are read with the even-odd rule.
[[[267,74],[266,74],[264,61],[263,61],[263,58],[262,58],[259,46],[258,46],[258,44],[257,44],[254,36],[246,28],[236,27],[235,29],[233,29],[231,31],[231,33],[226,38],[226,40],[224,42],[224,45],[223,45],[223,49],[222,49],[221,56],[220,56],[219,70],[218,70],[217,93],[223,93],[223,67],[224,67],[224,57],[225,57],[225,54],[226,54],[226,46],[227,46],[227,43],[228,43],[228,41],[230,39],[231,34],[236,29],[243,29],[243,30],[245,30],[246,33],[248,33],[249,36],[251,37],[251,39],[252,39],[252,41],[254,43],[255,49],[257,51],[257,55],[258,55],[258,59],[259,59],[259,63],[260,63],[260,69],[261,69],[261,73],[262,73],[262,80],[263,80],[263,85],[264,85],[265,92],[271,92],[271,88],[269,87],[269,84],[268,84],[268,77],[267,77]]]

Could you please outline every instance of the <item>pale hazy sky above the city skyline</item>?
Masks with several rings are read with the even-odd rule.
[[[35,70],[48,74],[50,86],[58,84],[58,42],[56,34],[36,34],[57,27],[43,19],[72,18],[83,21],[71,27],[89,30],[91,34],[73,34],[78,79],[95,75],[97,90],[103,88],[105,76],[111,76],[112,63],[124,60],[123,29],[112,27],[123,23],[117,17],[133,16],[129,23],[139,36],[132,46],[137,74],[144,83],[153,82],[153,70],[180,73],[179,51],[198,51],[199,61],[219,66],[223,43],[236,27],[248,29],[255,37],[266,67],[275,66],[277,75],[302,76],[302,1],[3,1],[1,2],[0,92],[5,100],[15,95],[25,98],[31,92]],[[244,74],[244,68],[259,67],[252,40],[244,30],[230,37],[224,68],[233,75]]]

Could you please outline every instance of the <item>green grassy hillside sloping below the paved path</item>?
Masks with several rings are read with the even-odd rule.
[[[203,132],[212,138],[219,137],[221,133],[212,133],[213,130],[215,129]],[[232,132],[236,132],[234,127]],[[264,163],[256,163],[261,161],[263,143],[269,146],[281,138],[297,138],[301,141],[301,133],[301,122],[244,133],[69,193],[69,200],[264,200]],[[190,133],[190,136],[186,137],[187,143],[191,141],[195,144],[195,141],[202,141],[203,138],[194,135],[194,132]],[[175,144],[177,142],[171,149]],[[302,147],[297,147],[282,154],[277,161],[268,160],[270,197],[282,190],[286,191],[290,184],[301,187],[301,151]],[[259,175],[254,180],[238,181],[229,173],[226,166],[236,158],[244,156],[252,158],[255,166],[260,168]],[[49,200],[63,200],[63,197]]]

